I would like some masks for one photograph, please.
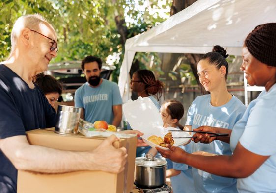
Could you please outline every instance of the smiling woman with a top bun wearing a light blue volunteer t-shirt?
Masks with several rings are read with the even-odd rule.
[[[233,128],[245,110],[245,105],[227,91],[226,79],[228,63],[226,50],[214,46],[211,52],[203,55],[197,64],[200,83],[210,94],[198,96],[191,104],[185,130],[196,129],[202,125]],[[210,155],[231,155],[230,145],[214,141],[208,145],[191,142],[191,152],[204,152]],[[194,188],[197,193],[236,193],[236,179],[213,175],[192,168]],[[193,186],[193,184],[191,184]]]

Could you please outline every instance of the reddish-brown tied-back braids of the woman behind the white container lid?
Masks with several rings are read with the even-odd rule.
[[[140,81],[144,83],[146,94],[155,95],[157,100],[159,100],[159,98],[164,94],[163,82],[156,80],[153,72],[149,70],[138,70],[135,73]]]

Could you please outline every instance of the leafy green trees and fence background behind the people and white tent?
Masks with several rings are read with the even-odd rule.
[[[0,60],[10,52],[10,33],[15,20],[39,13],[53,24],[58,38],[58,56],[51,63],[82,60],[95,55],[114,65],[110,80],[117,82],[127,38],[143,33],[185,9],[196,0],[1,0]],[[189,27],[189,26],[187,26]],[[210,50],[211,51],[211,50]],[[200,54],[137,53],[130,76],[138,69],[152,70],[166,85],[164,98],[177,99],[187,110],[196,96],[206,91],[199,84],[196,64]],[[228,57],[228,90],[244,102],[242,59]],[[57,77],[58,78],[58,77]],[[257,96],[251,92],[248,101]],[[136,99],[135,94],[132,99]],[[161,99],[161,103],[164,101]]]

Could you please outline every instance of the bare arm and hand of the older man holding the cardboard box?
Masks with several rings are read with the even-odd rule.
[[[115,135],[105,139],[92,151],[63,151],[29,145],[26,136],[0,139],[0,149],[16,169],[43,173],[64,173],[78,170],[102,170],[119,173],[124,169],[126,149],[116,149]]]

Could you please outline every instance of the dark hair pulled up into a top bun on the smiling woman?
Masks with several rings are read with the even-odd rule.
[[[220,69],[221,66],[225,66],[226,74],[225,80],[227,80],[228,75],[228,62],[226,58],[229,56],[226,54],[226,50],[219,45],[213,47],[211,52],[208,52],[202,56],[200,60],[207,60],[211,65],[215,65],[217,69]]]

